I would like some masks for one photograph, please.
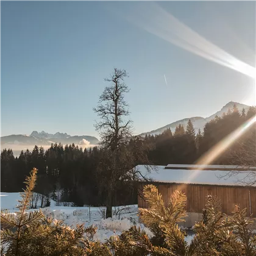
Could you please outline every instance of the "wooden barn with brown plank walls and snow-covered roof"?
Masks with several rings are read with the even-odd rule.
[[[227,215],[231,215],[235,205],[239,205],[240,208],[247,208],[248,215],[256,217],[256,185],[251,184],[253,179],[256,180],[256,168],[244,169],[230,165],[167,165],[154,166],[151,171],[143,165],[136,168],[143,177],[151,180],[145,182],[141,179],[138,184],[140,208],[148,207],[141,191],[144,185],[150,183],[158,188],[165,202],[169,201],[175,190],[186,194],[188,223],[185,226],[193,226],[195,221],[201,219],[208,194],[218,196],[222,212]]]

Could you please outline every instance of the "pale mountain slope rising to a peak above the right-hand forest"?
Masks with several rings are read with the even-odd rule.
[[[215,116],[222,116],[223,113],[227,113],[230,110],[232,110],[233,105],[236,105],[236,107],[238,108],[238,110],[241,112],[243,110],[243,108],[247,111],[249,109],[250,106],[248,105],[244,105],[244,104],[240,104],[238,102],[233,102],[230,101],[229,103],[227,103],[226,105],[224,105],[221,110],[219,110],[218,112],[216,112],[215,114],[208,116],[207,118],[203,118],[201,116],[195,116],[195,117],[191,117],[191,118],[185,118],[185,119],[181,119],[179,121],[176,121],[174,123],[171,124],[167,124],[166,126],[160,127],[158,129],[155,130],[151,130],[151,132],[144,132],[141,133],[141,136],[144,135],[156,135],[156,134],[160,134],[162,133],[164,130],[166,130],[167,128],[170,128],[172,132],[174,132],[176,126],[179,126],[179,124],[182,124],[182,126],[184,126],[184,128],[187,126],[188,120],[191,119],[191,122],[193,123],[194,129],[199,130],[199,128],[201,130],[204,129],[204,126],[207,122],[211,121],[213,118],[215,118]]]

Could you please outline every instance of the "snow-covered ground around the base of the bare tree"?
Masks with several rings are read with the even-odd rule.
[[[20,200],[20,193],[0,193],[0,209],[15,212],[17,200]],[[55,206],[55,202],[51,201],[51,207],[43,208],[45,215],[52,218],[60,219],[71,227],[76,224],[84,224],[85,227],[94,225],[97,232],[94,240],[104,241],[112,235],[119,235],[123,230],[130,229],[134,224],[144,229],[149,236],[152,236],[150,230],[138,222],[138,205],[128,205],[126,207],[113,207],[113,212],[121,210],[121,214],[114,215],[113,218],[104,219],[102,216],[102,208],[100,207],[64,207]],[[192,236],[187,236],[187,241],[191,241]]]

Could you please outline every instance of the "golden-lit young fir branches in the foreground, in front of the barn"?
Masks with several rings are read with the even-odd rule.
[[[229,218],[221,213],[218,199],[207,196],[203,219],[194,226],[195,234],[188,245],[187,234],[178,226],[186,216],[185,194],[175,191],[166,205],[154,185],[145,186],[143,193],[149,208],[140,209],[140,218],[154,236],[149,238],[133,226],[107,241],[114,255],[256,255],[256,236],[251,228],[254,219],[246,218],[246,210],[238,208]]]

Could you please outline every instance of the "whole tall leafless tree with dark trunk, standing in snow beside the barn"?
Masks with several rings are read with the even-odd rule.
[[[125,70],[115,68],[110,78],[105,79],[110,86],[105,87],[94,108],[101,118],[95,125],[102,145],[97,174],[100,192],[105,197],[106,218],[112,217],[118,186],[131,185],[138,178],[135,165],[148,163],[143,140],[132,136],[132,121],[127,118],[129,110],[124,95],[129,88],[124,83],[126,77]]]

